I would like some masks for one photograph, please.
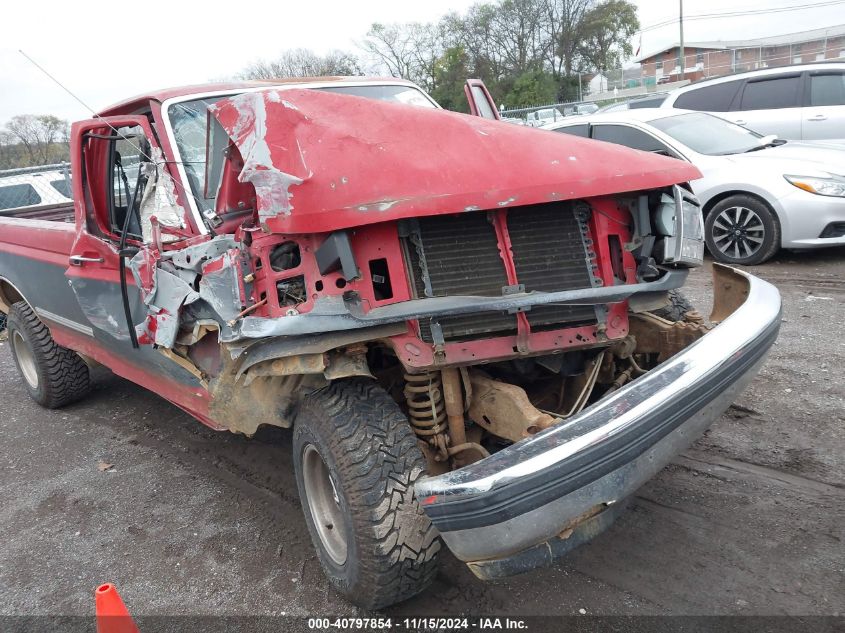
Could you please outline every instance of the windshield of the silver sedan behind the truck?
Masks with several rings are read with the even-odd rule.
[[[655,119],[649,124],[693,151],[708,156],[741,154],[760,147],[762,138],[756,132],[704,112]]]

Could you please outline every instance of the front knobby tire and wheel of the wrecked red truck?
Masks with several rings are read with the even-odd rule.
[[[293,432],[302,511],[332,586],[377,609],[424,590],[440,536],[414,498],[426,462],[396,402],[369,379],[308,395]]]

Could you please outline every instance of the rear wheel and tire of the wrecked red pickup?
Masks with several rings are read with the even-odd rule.
[[[26,302],[12,306],[6,327],[12,357],[33,400],[42,407],[58,409],[88,393],[88,365],[75,352],[56,344]]]

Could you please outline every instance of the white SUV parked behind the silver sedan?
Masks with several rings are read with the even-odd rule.
[[[779,138],[845,143],[845,62],[698,81],[672,91],[660,107],[711,112]]]

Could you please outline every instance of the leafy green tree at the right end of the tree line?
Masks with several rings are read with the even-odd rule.
[[[584,15],[581,55],[599,72],[618,68],[631,56],[631,37],[640,28],[637,7],[627,0],[605,0]]]

